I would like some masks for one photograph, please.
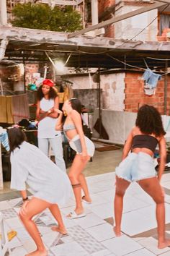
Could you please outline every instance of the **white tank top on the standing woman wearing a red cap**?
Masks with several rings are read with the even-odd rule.
[[[40,101],[40,108],[42,111],[48,111],[50,108],[53,108],[54,100],[46,100],[42,98]],[[57,122],[57,118],[53,118],[50,116],[46,116],[44,119],[39,121],[38,129],[37,129],[37,137],[39,138],[53,138],[55,136],[61,135],[61,131],[55,130],[55,124]]]

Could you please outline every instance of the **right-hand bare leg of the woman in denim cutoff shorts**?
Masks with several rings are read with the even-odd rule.
[[[158,248],[163,249],[170,245],[170,239],[165,237],[165,204],[164,195],[161,185],[156,177],[143,179],[140,182],[140,187],[145,190],[148,195],[151,195],[156,202],[156,220],[158,225]]]

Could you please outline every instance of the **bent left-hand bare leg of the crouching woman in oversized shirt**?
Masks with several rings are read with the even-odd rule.
[[[34,240],[35,244],[37,245],[37,250],[35,252],[29,253],[27,256],[47,256],[48,252],[45,249],[45,246],[42,242],[40,237],[40,232],[37,229],[34,221],[32,221],[32,217],[41,213],[42,210],[49,208],[50,203],[44,200],[40,200],[37,197],[33,197],[27,205],[25,206],[24,210],[20,210],[19,217],[24,224],[25,229],[30,234],[32,239]]]

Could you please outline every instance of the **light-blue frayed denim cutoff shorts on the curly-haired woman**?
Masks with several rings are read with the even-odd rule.
[[[147,153],[130,153],[117,168],[115,173],[119,178],[128,182],[138,182],[141,179],[153,178],[156,176],[156,169],[153,165],[153,158]]]

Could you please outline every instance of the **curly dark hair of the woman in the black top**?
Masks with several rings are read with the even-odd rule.
[[[161,115],[153,106],[143,105],[139,108],[135,125],[146,135],[163,136],[166,134]]]

